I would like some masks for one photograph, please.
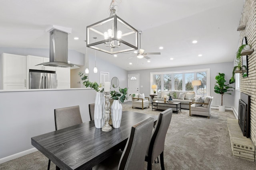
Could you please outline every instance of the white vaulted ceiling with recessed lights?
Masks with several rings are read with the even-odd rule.
[[[68,48],[85,54],[86,26],[108,18],[110,2],[2,1],[0,47],[49,48],[46,29],[59,25],[72,28]],[[120,53],[114,57],[97,51],[97,57],[125,70],[230,62],[240,45],[236,29],[243,0],[116,0],[115,4],[120,18],[143,31],[141,48],[145,52],[161,52],[161,55],[148,55],[147,60]],[[198,43],[193,44],[193,40]],[[159,49],[160,46],[164,49]],[[94,50],[88,48],[88,54],[94,56]],[[202,56],[198,57],[199,54]]]

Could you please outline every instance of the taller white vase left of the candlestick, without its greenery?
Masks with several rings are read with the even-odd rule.
[[[102,128],[105,124],[105,98],[103,92],[97,92],[94,106],[94,124],[96,128]]]

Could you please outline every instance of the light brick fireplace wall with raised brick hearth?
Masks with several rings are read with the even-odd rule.
[[[250,96],[250,138],[243,137],[240,127],[232,120],[228,120],[230,141],[234,156],[256,160],[256,0],[245,0],[243,12],[239,25],[246,25],[240,33],[240,45],[243,37],[247,38],[247,43],[254,49],[248,56],[248,77],[242,78],[240,75],[240,92]],[[240,93],[236,91],[235,93]],[[238,127],[238,128],[237,128]],[[236,131],[240,131],[239,133]],[[231,134],[232,133],[232,134]]]

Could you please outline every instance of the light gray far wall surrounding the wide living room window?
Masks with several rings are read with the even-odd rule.
[[[228,63],[215,63],[215,64],[203,64],[203,65],[194,65],[194,66],[179,66],[179,67],[170,67],[170,68],[156,68],[156,69],[147,69],[147,70],[133,70],[128,71],[128,74],[140,74],[140,93],[144,93],[145,96],[150,94],[150,72],[164,72],[164,71],[183,71],[183,70],[193,70],[193,69],[202,69],[210,68],[210,96],[214,97],[212,105],[221,104],[221,95],[214,92],[214,84],[216,82],[215,76],[220,72],[225,74],[226,83],[230,80],[233,70],[233,62]],[[234,84],[232,84],[234,86]],[[233,103],[233,93],[232,95],[225,94],[223,96],[223,104],[226,106],[234,106]]]

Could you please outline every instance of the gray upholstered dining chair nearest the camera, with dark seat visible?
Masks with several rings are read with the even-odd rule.
[[[118,150],[114,155],[94,166],[92,170],[143,170],[153,126],[152,117],[132,126],[124,151]]]

